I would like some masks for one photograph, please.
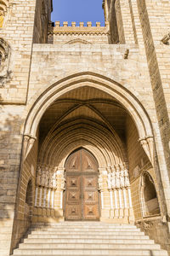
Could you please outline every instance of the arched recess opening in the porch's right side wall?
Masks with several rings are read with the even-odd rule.
[[[144,172],[142,177],[142,205],[144,217],[160,214],[156,187],[149,172]]]

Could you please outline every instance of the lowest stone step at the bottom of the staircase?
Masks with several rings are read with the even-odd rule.
[[[37,256],[37,255],[43,255],[43,256],[73,256],[73,255],[83,255],[83,256],[91,256],[91,255],[102,255],[102,256],[109,256],[109,255],[114,255],[114,256],[168,256],[167,252],[164,250],[138,250],[138,249],[112,249],[112,250],[102,250],[102,249],[71,249],[71,250],[63,250],[63,249],[58,249],[58,250],[52,250],[52,249],[44,249],[44,250],[20,250],[16,249],[14,250],[14,255],[26,255],[26,256]]]

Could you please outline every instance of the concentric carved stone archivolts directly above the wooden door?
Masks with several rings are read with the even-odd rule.
[[[88,124],[84,122],[82,125],[77,120],[65,125],[60,130],[54,129],[54,132],[47,137],[42,145],[39,161],[63,167],[68,154],[78,146],[85,145],[85,148],[93,147],[99,167],[125,162],[126,159],[122,154],[123,147],[116,141],[116,137],[113,137],[108,130],[106,131],[105,127],[100,125],[94,127],[93,124],[90,121]]]

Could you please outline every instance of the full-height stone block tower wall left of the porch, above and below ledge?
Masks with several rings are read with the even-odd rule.
[[[36,0],[9,1],[0,38],[9,46],[8,73],[0,82],[0,255],[8,255],[20,175],[23,106],[26,103]],[[19,105],[17,105],[19,104]]]

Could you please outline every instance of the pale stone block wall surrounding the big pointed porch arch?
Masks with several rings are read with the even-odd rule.
[[[56,45],[32,45],[36,0],[14,0],[8,20],[5,21],[3,28],[0,28],[1,38],[10,47],[10,75],[0,84],[0,102],[2,103],[0,108],[0,254],[2,256],[9,253],[11,240],[11,250],[16,246],[30,224],[30,221],[25,219],[24,202],[29,178],[31,177],[34,182],[32,173],[34,169],[35,174],[37,168],[35,159],[37,144],[28,156],[26,164],[21,166],[23,168],[20,172],[23,140],[21,127],[26,120],[26,109],[32,107],[30,102],[37,99],[40,90],[46,90],[51,84],[70,74],[84,71],[101,73],[116,80],[138,97],[153,125],[156,138],[156,182],[160,188],[163,188],[161,189],[163,192],[159,195],[163,211],[166,212],[167,207],[167,212],[170,212],[169,177],[166,174],[167,169],[170,170],[169,45],[160,43],[169,29],[170,3],[167,0],[161,0],[159,3],[152,0],[120,0],[116,3],[119,37],[124,33],[124,36],[120,37],[124,37],[122,41],[120,40],[122,44],[109,45],[106,44],[106,37],[93,36],[93,42],[96,43],[99,40],[101,44],[82,44],[83,38],[80,37],[79,40],[81,40],[77,46],[59,45],[59,41],[55,42]],[[40,11],[38,5],[37,10]],[[41,12],[37,15],[39,17],[37,17],[39,20],[37,26],[41,23],[40,15]],[[45,42],[44,34],[42,36],[42,33],[39,35],[35,33],[35,42]],[[56,39],[60,40],[59,37]],[[72,40],[65,36],[61,39],[65,39],[65,43]],[[126,59],[127,50],[129,55]],[[22,104],[26,104],[26,108]],[[32,160],[33,158],[35,160]],[[136,188],[139,188],[139,181],[137,183]],[[162,184],[163,187],[161,187]],[[137,189],[133,189],[133,196],[136,191]],[[138,214],[136,216],[142,217]],[[167,215],[167,219],[166,216],[161,216],[160,219],[148,220],[147,225],[142,220],[139,226],[144,227],[144,230],[161,244],[165,244],[166,237],[167,246],[168,218]],[[160,226],[158,231],[155,224],[156,227]]]

